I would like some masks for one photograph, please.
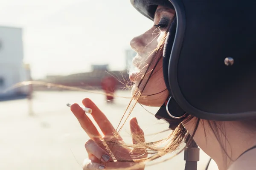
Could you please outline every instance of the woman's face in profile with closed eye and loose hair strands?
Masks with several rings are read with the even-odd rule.
[[[130,80],[134,82],[132,94],[136,94],[137,91],[141,91],[143,89],[147,82],[146,80],[157,63],[157,59],[161,57],[141,95],[146,97],[142,97],[138,101],[142,105],[161,106],[169,95],[163,79],[163,57],[156,56],[152,51],[157,48],[160,41],[163,39],[174,14],[175,11],[173,9],[158,6],[154,17],[154,26],[148,29],[145,33],[134,37],[130,42],[131,48],[137,52],[136,57],[133,59],[133,64],[139,70],[130,74]],[[150,63],[151,65],[148,68]],[[145,74],[147,68],[148,71]],[[138,87],[143,75],[144,79]],[[138,90],[136,91],[137,87]]]

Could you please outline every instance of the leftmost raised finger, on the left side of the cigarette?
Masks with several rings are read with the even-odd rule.
[[[88,134],[88,136],[94,141],[101,143],[99,139],[99,131],[93,125],[93,122],[89,119],[89,117],[84,113],[84,110],[77,103],[71,105],[70,110],[74,113],[81,127]]]

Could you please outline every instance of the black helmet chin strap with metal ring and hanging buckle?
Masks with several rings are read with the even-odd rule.
[[[160,107],[155,117],[164,119],[169,123],[169,128],[175,128],[184,120],[188,114],[183,111],[172,96],[166,99],[166,102]],[[185,139],[186,147],[184,149],[184,160],[186,161],[185,170],[197,170],[197,161],[199,161],[199,148],[191,136]]]

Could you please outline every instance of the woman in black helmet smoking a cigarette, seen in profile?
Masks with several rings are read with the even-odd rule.
[[[165,148],[155,149],[145,143],[143,130],[133,118],[130,125],[134,149],[120,147],[122,138],[114,127],[90,99],[84,99],[84,106],[93,109],[92,116],[106,136],[105,140],[98,137],[98,131],[79,105],[71,106],[91,137],[85,144],[89,159],[84,169],[143,170],[140,162],[163,156],[184,140],[190,144],[192,138],[219,170],[255,169],[256,2],[131,3],[154,21],[148,31],[131,40],[131,47],[138,53],[133,62],[140,70],[130,75],[133,98],[148,106],[160,107],[164,103],[157,116],[175,129],[170,136],[173,140]],[[156,154],[147,159],[146,151],[150,150]]]

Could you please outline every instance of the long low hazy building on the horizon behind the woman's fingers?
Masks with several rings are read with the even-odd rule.
[[[105,77],[114,77],[116,79],[116,88],[126,89],[130,87],[133,83],[129,80],[128,71],[135,70],[132,64],[132,59],[136,56],[136,52],[127,49],[125,50],[125,69],[122,71],[109,71],[109,65],[91,65],[91,72],[70,74],[66,76],[60,75],[48,75],[46,79],[41,79],[39,81],[54,83],[55,85],[65,85],[68,87],[79,87],[84,89],[101,89],[102,80]],[[35,90],[56,90],[56,86],[51,86],[50,88],[44,85],[35,85]]]

